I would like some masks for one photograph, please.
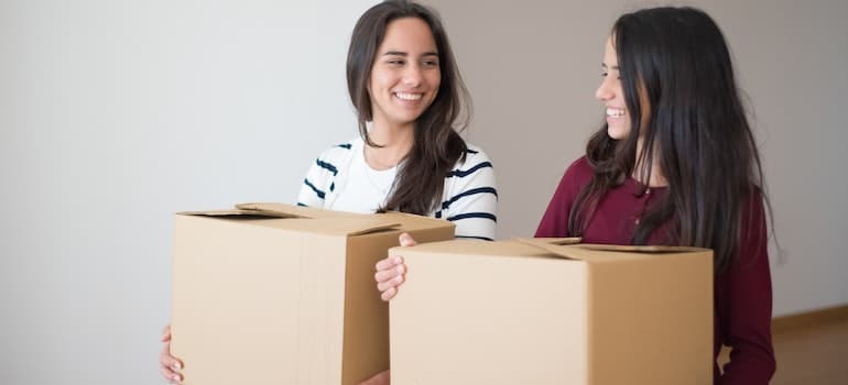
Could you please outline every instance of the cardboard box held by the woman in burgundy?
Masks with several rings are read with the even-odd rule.
[[[392,385],[713,384],[711,251],[558,241],[392,250]]]

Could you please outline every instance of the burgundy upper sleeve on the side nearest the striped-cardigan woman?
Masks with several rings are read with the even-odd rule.
[[[588,174],[587,174],[588,172]],[[577,194],[580,193],[583,179],[591,178],[591,168],[581,157],[565,170],[559,185],[547,204],[547,209],[542,216],[536,229],[536,238],[557,238],[568,237],[568,215],[572,212],[572,206]]]

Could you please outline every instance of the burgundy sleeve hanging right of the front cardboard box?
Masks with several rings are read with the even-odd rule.
[[[742,219],[740,253],[727,273],[716,276],[716,321],[730,362],[717,384],[768,384],[774,374],[771,338],[772,286],[762,197],[755,196]],[[719,338],[719,336],[716,336]]]

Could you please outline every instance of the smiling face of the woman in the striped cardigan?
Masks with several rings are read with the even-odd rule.
[[[427,23],[417,18],[390,22],[368,82],[374,124],[411,127],[436,99],[441,81],[438,50]]]

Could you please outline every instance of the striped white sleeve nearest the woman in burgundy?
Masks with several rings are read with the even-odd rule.
[[[445,178],[445,194],[436,218],[456,224],[456,238],[492,241],[498,221],[498,190],[491,161],[469,150],[464,163]]]

